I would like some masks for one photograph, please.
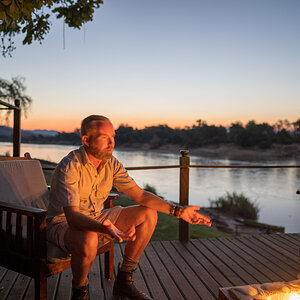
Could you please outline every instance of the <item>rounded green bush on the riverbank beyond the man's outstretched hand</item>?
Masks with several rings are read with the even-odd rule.
[[[216,200],[209,200],[210,205],[236,217],[257,220],[259,207],[251,202],[243,193],[226,193]]]

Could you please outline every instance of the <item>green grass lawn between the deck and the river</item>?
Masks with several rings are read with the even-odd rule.
[[[136,203],[124,195],[114,201],[114,205],[130,206]],[[170,215],[158,212],[158,222],[151,241],[171,241],[179,238],[179,220]],[[190,239],[216,238],[228,236],[215,228],[204,225],[189,224]]]

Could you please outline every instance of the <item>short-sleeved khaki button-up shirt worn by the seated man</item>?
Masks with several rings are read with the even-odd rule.
[[[85,215],[98,214],[113,186],[123,192],[135,185],[114,156],[98,173],[81,146],[64,157],[54,171],[47,218],[65,217],[66,206],[79,206]]]

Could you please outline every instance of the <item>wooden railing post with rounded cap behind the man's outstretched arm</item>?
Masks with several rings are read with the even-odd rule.
[[[179,204],[182,206],[189,205],[189,165],[190,158],[188,150],[180,150],[181,157],[179,159],[180,168],[180,191]],[[179,220],[179,241],[184,243],[189,240],[189,224],[183,220]]]

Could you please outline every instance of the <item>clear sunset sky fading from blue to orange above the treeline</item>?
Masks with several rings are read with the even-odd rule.
[[[300,118],[299,0],[104,0],[66,27],[65,49],[52,23],[42,45],[18,37],[0,57],[0,77],[25,77],[33,99],[23,129],[73,131],[89,114],[139,128]]]

